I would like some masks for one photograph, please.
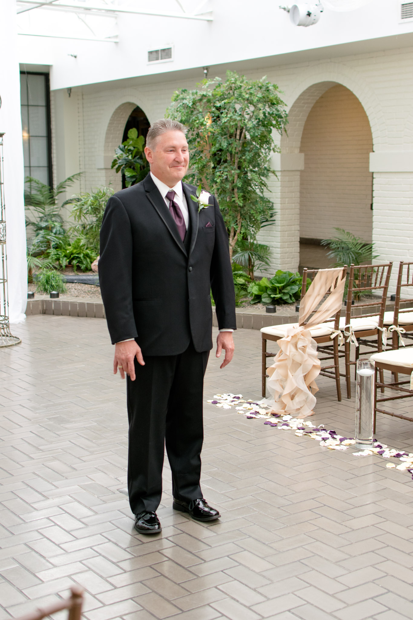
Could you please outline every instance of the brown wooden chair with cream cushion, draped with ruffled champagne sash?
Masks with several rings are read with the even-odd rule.
[[[318,273],[318,269],[303,270],[303,279],[301,286],[301,300],[303,299],[307,290],[307,279],[313,281],[315,275]],[[347,265],[343,267],[342,273],[347,272]],[[329,294],[329,293],[328,293]],[[336,381],[337,389],[337,401],[341,401],[341,384],[340,376],[346,376],[339,371],[339,358],[344,357],[344,353],[339,353],[339,321],[340,321],[341,309],[334,315],[334,322],[331,324],[320,324],[311,328],[311,337],[317,343],[317,351],[323,354],[323,357],[319,356],[321,362],[326,360],[333,360],[333,364],[321,366],[320,374],[325,377],[329,377]],[[272,325],[271,327],[263,327],[261,329],[262,338],[262,394],[266,396],[266,378],[267,378],[267,358],[276,356],[276,353],[267,351],[267,340],[277,342],[285,336],[285,329],[289,325],[298,325],[298,323],[287,323],[283,325]],[[335,334],[335,337],[331,337]]]

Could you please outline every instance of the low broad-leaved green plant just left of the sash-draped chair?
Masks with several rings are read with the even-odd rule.
[[[302,276],[298,272],[283,272],[280,269],[271,280],[262,278],[259,282],[252,282],[248,286],[248,293],[252,295],[251,304],[292,304],[301,296]],[[310,278],[307,287],[310,286]]]

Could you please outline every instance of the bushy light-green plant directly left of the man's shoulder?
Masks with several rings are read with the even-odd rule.
[[[99,253],[99,233],[103,213],[111,195],[113,195],[112,188],[97,187],[94,192],[72,196],[62,205],[73,205],[71,218],[76,224],[72,226],[71,232],[82,237],[87,247],[96,254]]]

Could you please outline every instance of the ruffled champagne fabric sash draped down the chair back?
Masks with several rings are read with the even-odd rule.
[[[300,418],[313,414],[316,404],[314,394],[318,391],[315,379],[321,365],[317,357],[317,343],[311,338],[311,327],[326,321],[341,308],[346,284],[346,277],[342,277],[342,273],[342,268],[319,270],[300,303],[298,327],[290,325],[285,337],[277,340],[280,350],[274,358],[274,364],[267,369],[270,375],[267,387],[271,399],[261,401],[270,406],[273,413]],[[303,325],[329,290],[329,296],[310,321]],[[331,338],[336,335],[332,333]]]

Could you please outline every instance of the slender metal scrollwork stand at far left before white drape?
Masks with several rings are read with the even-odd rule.
[[[3,136],[0,133],[0,347],[18,345],[22,340],[11,334],[7,293],[6,205],[4,203]]]

